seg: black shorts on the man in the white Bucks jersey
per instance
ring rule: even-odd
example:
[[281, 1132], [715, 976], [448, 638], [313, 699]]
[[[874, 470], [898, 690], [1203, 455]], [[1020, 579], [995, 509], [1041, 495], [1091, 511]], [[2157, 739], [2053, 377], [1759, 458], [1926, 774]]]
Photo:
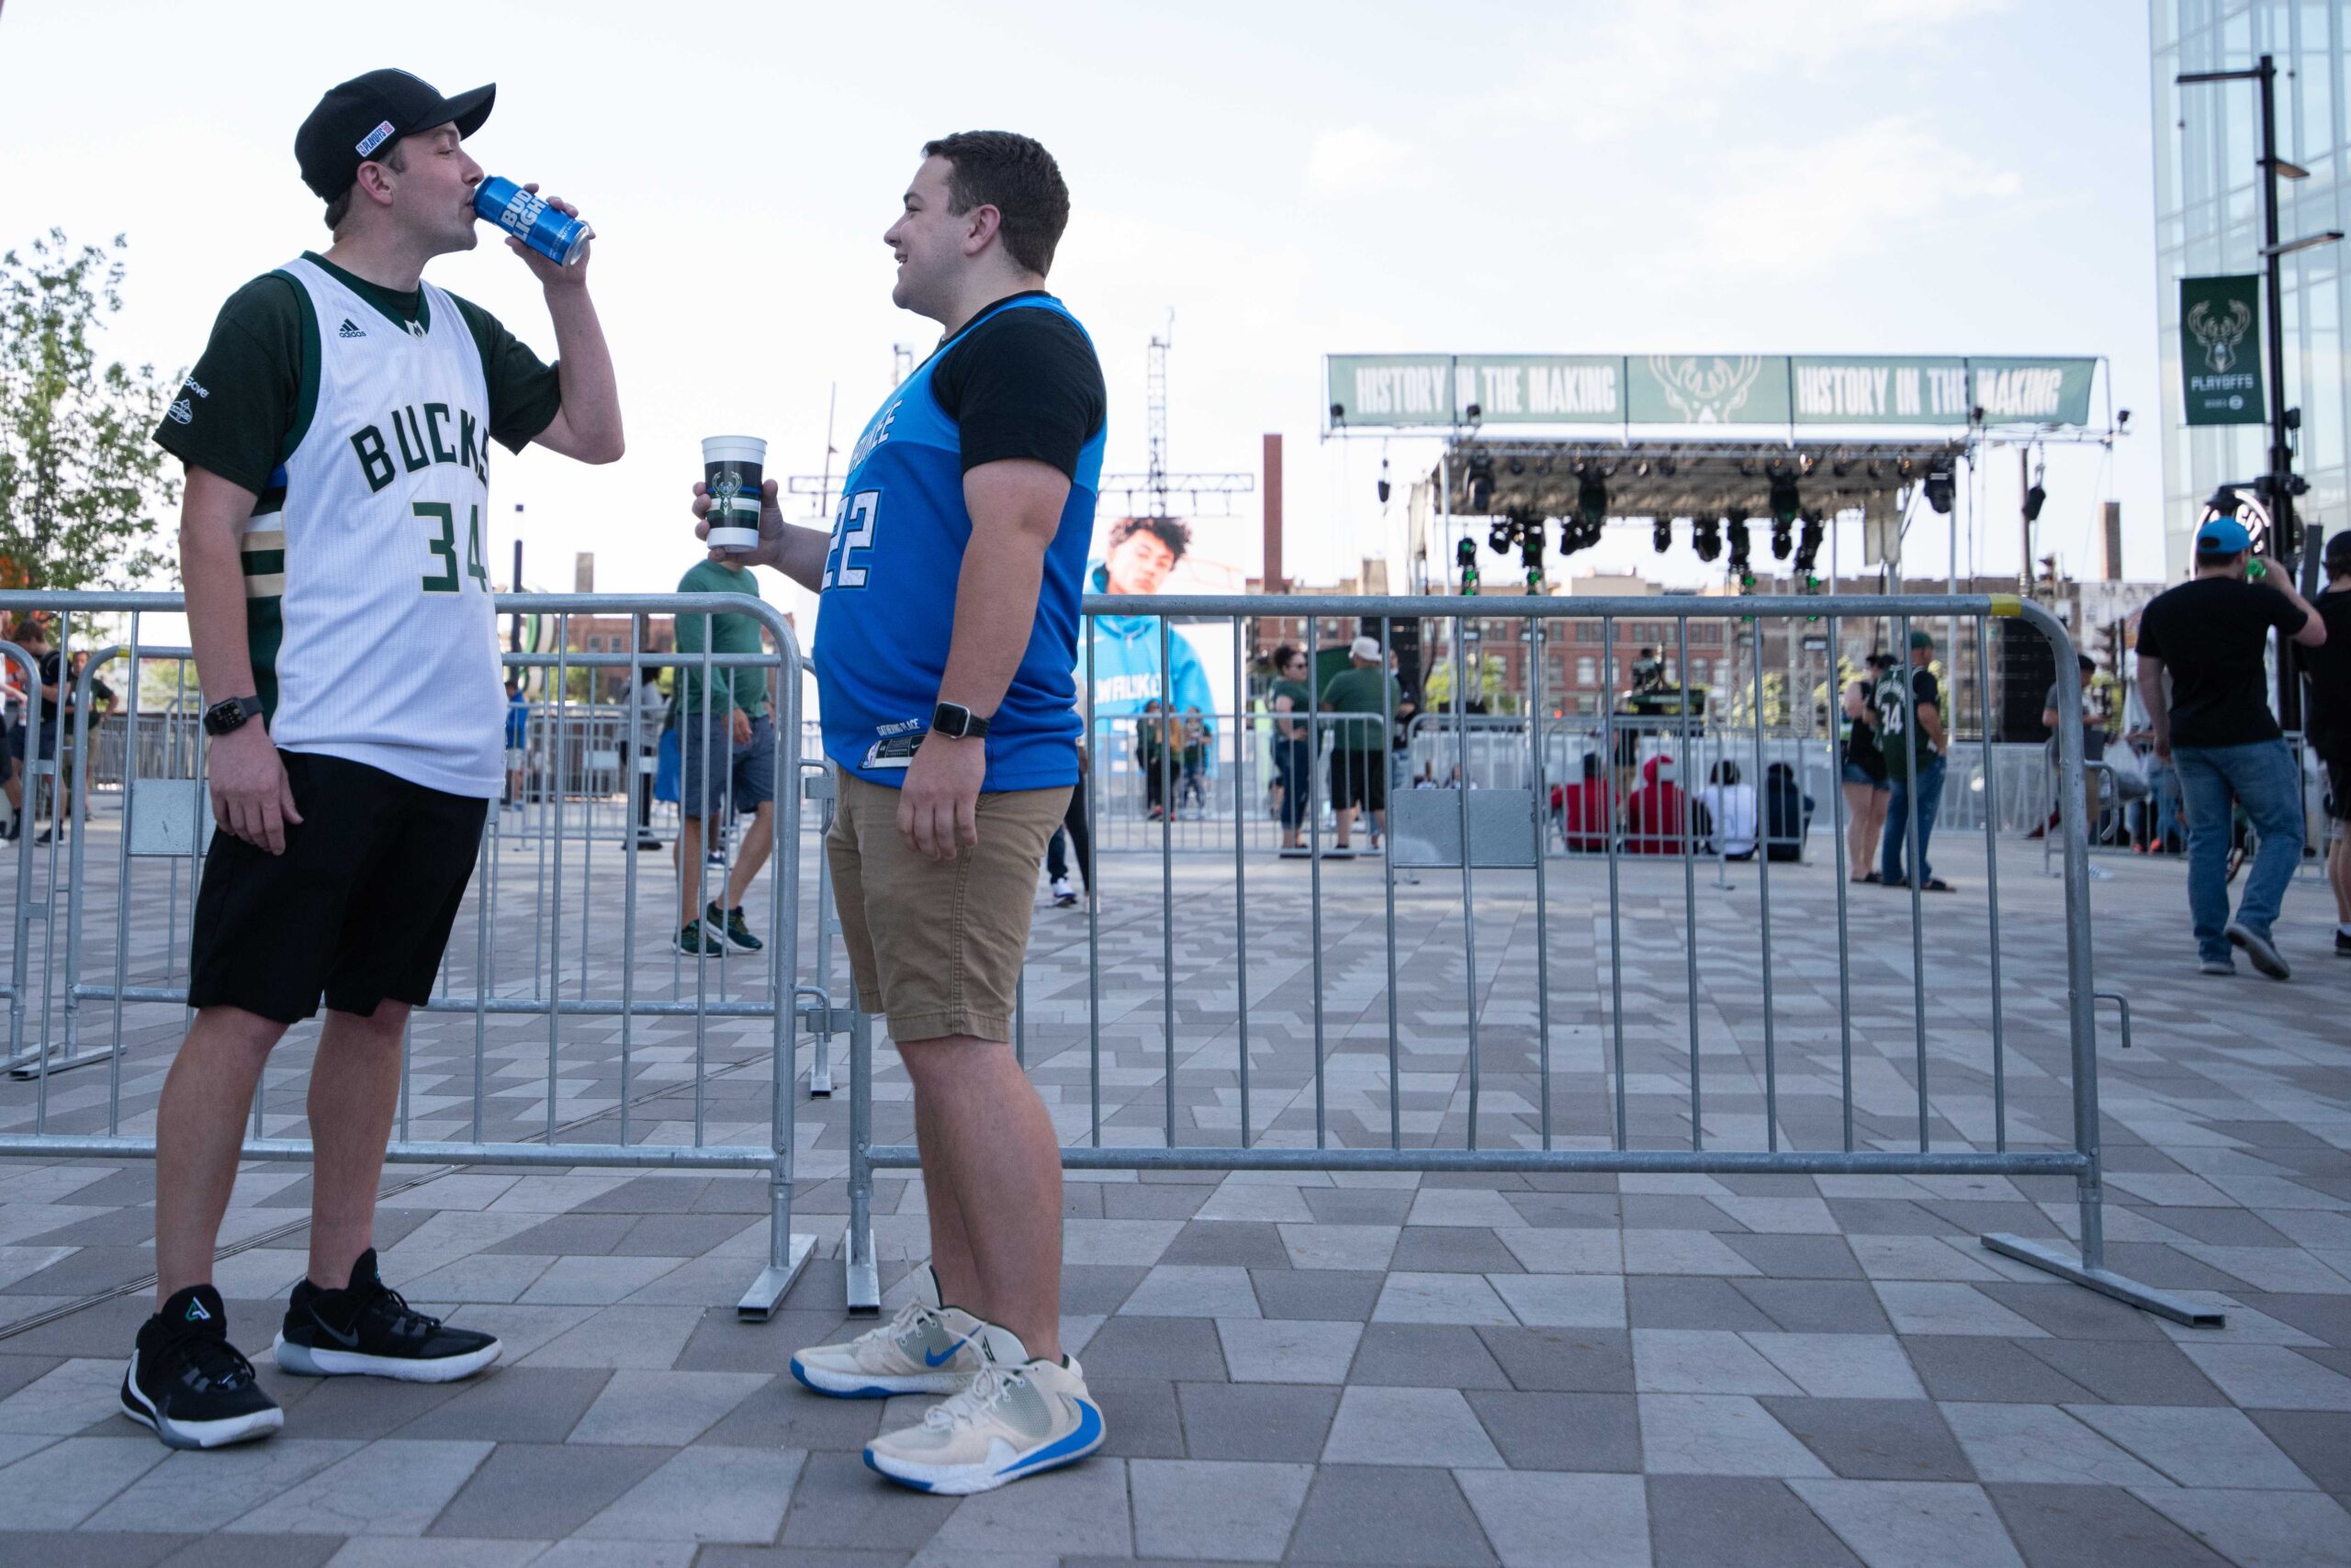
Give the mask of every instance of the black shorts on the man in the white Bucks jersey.
[[301, 825], [273, 856], [214, 832], [195, 896], [188, 1006], [277, 1023], [371, 1018], [433, 997], [449, 929], [482, 851], [489, 802], [444, 795], [343, 757], [280, 752]]

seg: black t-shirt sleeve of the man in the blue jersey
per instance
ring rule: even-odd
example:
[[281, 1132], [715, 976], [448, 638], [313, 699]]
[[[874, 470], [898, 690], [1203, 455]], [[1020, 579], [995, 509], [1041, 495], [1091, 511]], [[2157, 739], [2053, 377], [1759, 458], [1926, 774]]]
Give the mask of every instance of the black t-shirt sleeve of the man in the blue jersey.
[[964, 334], [931, 371], [931, 395], [962, 430], [964, 473], [1030, 458], [1072, 480], [1110, 404], [1086, 334], [1037, 308], [1004, 310]]

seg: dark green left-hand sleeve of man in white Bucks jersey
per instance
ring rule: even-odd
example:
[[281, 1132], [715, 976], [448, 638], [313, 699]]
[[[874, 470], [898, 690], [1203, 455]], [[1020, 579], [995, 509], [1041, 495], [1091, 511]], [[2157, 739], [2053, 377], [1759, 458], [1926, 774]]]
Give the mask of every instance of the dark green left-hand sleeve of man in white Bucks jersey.
[[[303, 374], [315, 336], [310, 301], [284, 273], [230, 294], [202, 357], [155, 425], [155, 444], [254, 494], [270, 489], [270, 475], [308, 423]], [[315, 397], [313, 383], [308, 400]]]

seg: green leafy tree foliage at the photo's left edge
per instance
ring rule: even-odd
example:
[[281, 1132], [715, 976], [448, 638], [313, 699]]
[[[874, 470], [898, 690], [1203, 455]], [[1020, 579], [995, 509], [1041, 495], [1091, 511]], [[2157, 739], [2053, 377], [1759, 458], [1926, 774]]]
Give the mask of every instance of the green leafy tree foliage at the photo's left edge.
[[122, 310], [122, 235], [68, 244], [61, 228], [0, 256], [0, 585], [132, 588], [169, 567], [158, 515], [179, 477], [148, 433], [179, 376], [103, 362]]

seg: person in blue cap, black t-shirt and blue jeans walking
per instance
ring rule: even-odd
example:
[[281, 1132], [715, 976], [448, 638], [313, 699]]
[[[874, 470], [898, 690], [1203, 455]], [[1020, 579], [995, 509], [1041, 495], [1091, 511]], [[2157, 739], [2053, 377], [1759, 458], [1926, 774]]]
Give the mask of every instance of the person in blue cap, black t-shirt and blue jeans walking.
[[[2271, 980], [2292, 969], [2269, 938], [2285, 884], [2302, 860], [2302, 773], [2264, 696], [2269, 632], [2304, 646], [2327, 623], [2285, 581], [2248, 581], [2252, 538], [2233, 517], [2196, 529], [2196, 576], [2139, 616], [2139, 696], [2156, 731], [2156, 762], [2179, 773], [2189, 813], [2189, 917], [2208, 976], [2236, 973], [2243, 947]], [[2163, 677], [2172, 677], [2170, 701]], [[2262, 849], [2229, 919], [2229, 802], [2245, 809]]]

